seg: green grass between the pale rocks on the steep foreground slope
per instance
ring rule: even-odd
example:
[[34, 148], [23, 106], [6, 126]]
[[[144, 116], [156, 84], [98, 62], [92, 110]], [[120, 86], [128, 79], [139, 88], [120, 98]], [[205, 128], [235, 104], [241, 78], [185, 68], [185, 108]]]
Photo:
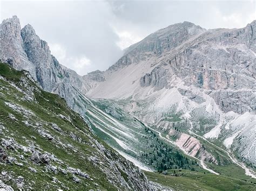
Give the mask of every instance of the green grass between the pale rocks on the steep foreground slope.
[[[21, 77], [26, 78], [23, 72], [17, 72], [8, 65], [0, 63], [0, 76], [5, 77], [8, 81], [14, 82], [19, 88], [24, 88], [23, 84], [20, 83]], [[29, 81], [29, 86], [35, 87], [35, 84], [32, 81]], [[46, 93], [42, 90], [35, 90], [33, 92], [35, 93], [36, 102], [28, 102], [21, 99], [24, 97], [24, 94], [21, 91], [18, 91], [15, 87], [10, 86], [9, 82], [1, 79], [0, 92], [0, 125], [5, 127], [3, 133], [0, 133], [0, 139], [13, 137], [18, 144], [23, 146], [29, 146], [29, 143], [35, 143], [39, 148], [42, 148], [42, 153], [53, 153], [64, 163], [60, 164], [59, 162], [51, 161], [52, 166], [58, 166], [64, 169], [68, 166], [79, 168], [82, 172], [89, 174], [93, 181], [78, 176], [82, 181], [80, 183], [75, 183], [71, 173], [64, 174], [59, 172], [55, 174], [52, 171], [47, 171], [45, 164], [35, 164], [30, 160], [31, 153], [24, 153], [21, 150], [5, 149], [9, 156], [15, 157], [17, 162], [21, 162], [24, 165], [20, 167], [15, 164], [9, 165], [0, 163], [1, 171], [6, 171], [11, 174], [13, 179], [17, 178], [17, 176], [23, 176], [25, 185], [37, 189], [66, 189], [67, 187], [70, 189], [116, 189], [116, 187], [107, 180], [106, 174], [102, 172], [102, 169], [97, 165], [93, 165], [88, 159], [89, 156], [93, 155], [97, 155], [98, 158], [101, 157], [100, 154], [97, 154], [98, 150], [91, 146], [92, 144], [95, 144], [93, 143], [93, 140], [98, 140], [98, 138], [93, 136], [83, 119], [66, 105], [63, 98], [60, 98], [58, 95]], [[14, 111], [8, 107], [5, 102], [21, 105], [22, 108], [32, 111], [35, 116], [26, 117], [21, 112]], [[17, 121], [12, 120], [9, 116], [10, 114], [14, 115]], [[59, 117], [58, 114], [69, 116], [71, 122]], [[32, 126], [26, 126], [24, 121], [29, 121]], [[59, 142], [65, 145], [71, 144], [77, 151], [74, 151], [72, 148], [64, 148], [56, 141], [48, 140], [47, 138], [42, 137], [42, 135], [39, 135], [36, 123], [41, 123], [42, 128], [55, 137], [55, 140], [59, 140]], [[51, 123], [57, 124], [62, 132], [52, 129]], [[69, 136], [71, 132], [81, 138], [82, 142], [79, 143], [76, 140], [73, 140]], [[98, 140], [98, 142], [100, 142], [100, 140]], [[103, 142], [100, 143], [108, 148], [110, 153], [113, 153], [112, 148]], [[19, 158], [21, 154], [24, 155], [23, 160]], [[116, 156], [115, 154], [113, 155]], [[31, 172], [29, 167], [35, 168], [37, 173]], [[125, 173], [122, 172], [121, 174]], [[58, 179], [57, 183], [52, 182], [53, 176]], [[127, 178], [126, 176], [124, 178]], [[14, 180], [6, 180], [5, 183], [12, 186], [14, 189], [17, 189]]]

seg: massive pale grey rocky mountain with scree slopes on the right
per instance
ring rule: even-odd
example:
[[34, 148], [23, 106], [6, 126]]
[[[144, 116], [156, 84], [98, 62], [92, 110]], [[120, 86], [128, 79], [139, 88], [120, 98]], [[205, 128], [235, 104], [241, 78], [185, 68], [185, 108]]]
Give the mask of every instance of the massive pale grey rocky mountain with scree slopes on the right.
[[122, 104], [168, 137], [176, 126], [221, 142], [255, 166], [255, 30], [256, 21], [242, 29], [171, 25], [127, 48], [86, 95]]

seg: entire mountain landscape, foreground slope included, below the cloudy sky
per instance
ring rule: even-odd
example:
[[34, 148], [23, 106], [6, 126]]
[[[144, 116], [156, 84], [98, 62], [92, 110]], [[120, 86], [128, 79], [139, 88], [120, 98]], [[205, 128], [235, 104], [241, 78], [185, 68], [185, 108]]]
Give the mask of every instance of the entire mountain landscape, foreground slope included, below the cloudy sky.
[[84, 76], [0, 29], [0, 188], [255, 189], [255, 20], [170, 25]]

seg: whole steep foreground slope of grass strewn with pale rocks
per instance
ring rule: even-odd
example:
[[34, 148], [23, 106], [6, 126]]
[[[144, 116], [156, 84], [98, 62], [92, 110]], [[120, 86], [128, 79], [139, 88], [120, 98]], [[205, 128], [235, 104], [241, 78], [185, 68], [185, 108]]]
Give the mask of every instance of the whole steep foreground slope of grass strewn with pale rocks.
[[150, 190], [145, 175], [99, 140], [58, 95], [0, 63], [0, 187]]

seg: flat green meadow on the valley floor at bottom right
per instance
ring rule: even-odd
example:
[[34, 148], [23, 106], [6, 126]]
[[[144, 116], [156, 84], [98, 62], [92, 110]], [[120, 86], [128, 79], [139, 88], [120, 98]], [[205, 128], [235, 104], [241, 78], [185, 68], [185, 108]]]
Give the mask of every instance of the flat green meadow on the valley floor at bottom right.
[[254, 183], [211, 173], [170, 169], [166, 175], [153, 172], [145, 174], [149, 180], [174, 190], [256, 190]]

